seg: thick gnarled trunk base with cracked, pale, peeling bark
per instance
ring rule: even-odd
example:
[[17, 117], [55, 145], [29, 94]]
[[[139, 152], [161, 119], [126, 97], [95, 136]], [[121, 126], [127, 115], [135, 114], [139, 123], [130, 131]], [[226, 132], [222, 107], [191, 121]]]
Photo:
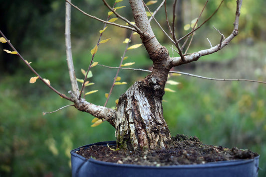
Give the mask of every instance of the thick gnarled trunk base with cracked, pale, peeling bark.
[[120, 96], [114, 121], [119, 147], [165, 149], [171, 144], [170, 131], [163, 117], [164, 84], [151, 74]]

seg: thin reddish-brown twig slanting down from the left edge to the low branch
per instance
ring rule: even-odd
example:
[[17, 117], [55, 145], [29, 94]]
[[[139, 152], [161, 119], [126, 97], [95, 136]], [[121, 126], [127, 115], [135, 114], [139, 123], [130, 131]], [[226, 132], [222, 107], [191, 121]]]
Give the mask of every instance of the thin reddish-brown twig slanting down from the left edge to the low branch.
[[17, 52], [17, 56], [27, 65], [27, 67], [36, 75], [38, 76], [40, 79], [48, 88], [52, 89], [54, 92], [56, 92], [59, 96], [71, 101], [70, 97], [67, 97], [65, 94], [60, 93], [59, 91], [57, 91], [56, 89], [54, 89], [51, 85], [49, 85], [47, 82], [44, 81], [44, 79], [42, 79], [42, 77], [25, 61], [25, 59], [19, 54], [19, 52], [14, 48], [14, 46], [10, 43], [10, 41], [8, 41], [8, 39], [4, 36], [4, 34], [2, 33], [2, 31], [0, 30], [0, 34], [1, 36], [3, 36], [3, 38], [6, 40], [6, 42], [8, 43], [8, 45]]

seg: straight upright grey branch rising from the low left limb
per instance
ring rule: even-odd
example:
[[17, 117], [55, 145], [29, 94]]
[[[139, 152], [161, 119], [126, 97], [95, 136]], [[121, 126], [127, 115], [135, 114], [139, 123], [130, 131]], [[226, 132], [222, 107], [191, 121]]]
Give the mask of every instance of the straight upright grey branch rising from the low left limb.
[[[69, 0], [71, 1], [71, 0]], [[66, 47], [66, 61], [68, 67], [68, 73], [70, 77], [70, 82], [72, 86], [72, 90], [74, 94], [79, 94], [79, 89], [77, 85], [75, 69], [73, 64], [72, 58], [72, 51], [71, 51], [71, 38], [70, 38], [70, 31], [71, 31], [71, 5], [65, 2], [65, 47]]]

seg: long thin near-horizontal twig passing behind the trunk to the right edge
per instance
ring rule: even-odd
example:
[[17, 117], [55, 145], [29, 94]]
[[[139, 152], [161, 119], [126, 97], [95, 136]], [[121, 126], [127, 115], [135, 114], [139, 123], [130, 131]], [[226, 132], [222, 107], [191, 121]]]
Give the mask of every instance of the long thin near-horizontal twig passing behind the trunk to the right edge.
[[[136, 68], [110, 67], [110, 66], [105, 66], [105, 65], [100, 65], [100, 64], [98, 64], [97, 66], [102, 66], [102, 67], [112, 68], [112, 69], [124, 69], [124, 70], [133, 70], [133, 71], [143, 71], [143, 72], [148, 72], [148, 73], [151, 73], [152, 72], [150, 70], [143, 70], [143, 69], [136, 69]], [[255, 80], [248, 80], [248, 79], [217, 79], [217, 78], [208, 78], [208, 77], [193, 75], [193, 74], [190, 74], [190, 73], [179, 72], [179, 71], [170, 71], [169, 73], [182, 74], [182, 75], [186, 75], [186, 76], [192, 76], [192, 77], [195, 77], [195, 78], [201, 78], [201, 79], [207, 79], [207, 80], [214, 80], [214, 81], [246, 81], [246, 82], [254, 82], [254, 83], [266, 84], [266, 82], [263, 82], [263, 81], [255, 81]]]

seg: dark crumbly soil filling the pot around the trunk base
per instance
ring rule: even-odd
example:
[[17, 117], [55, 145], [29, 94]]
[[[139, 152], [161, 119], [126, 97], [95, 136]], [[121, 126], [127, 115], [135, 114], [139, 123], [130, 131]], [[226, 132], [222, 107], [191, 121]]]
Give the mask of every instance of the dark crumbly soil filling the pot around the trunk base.
[[[222, 146], [204, 145], [197, 137], [188, 138], [185, 135], [173, 137], [173, 147], [165, 150], [124, 151], [115, 146], [91, 146], [81, 148], [76, 153], [89, 159], [113, 162], [119, 164], [135, 164], [148, 166], [170, 166], [205, 164], [209, 162], [237, 159], [253, 159], [257, 153], [238, 148], [223, 148]], [[112, 149], [110, 149], [112, 148]]]

